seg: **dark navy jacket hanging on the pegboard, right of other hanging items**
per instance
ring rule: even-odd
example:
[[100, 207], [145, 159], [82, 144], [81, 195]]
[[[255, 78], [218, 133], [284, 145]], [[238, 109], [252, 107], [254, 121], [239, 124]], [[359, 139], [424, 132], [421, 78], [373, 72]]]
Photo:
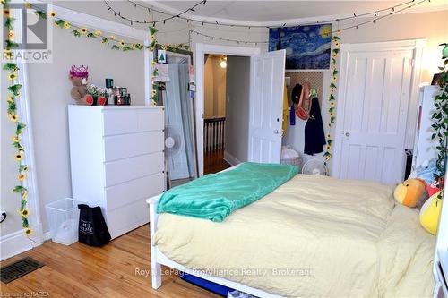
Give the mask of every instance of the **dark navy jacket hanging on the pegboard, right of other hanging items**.
[[313, 155], [323, 152], [323, 145], [326, 144], [325, 132], [323, 131], [321, 107], [319, 99], [311, 100], [309, 118], [305, 124], [305, 148], [304, 153]]

